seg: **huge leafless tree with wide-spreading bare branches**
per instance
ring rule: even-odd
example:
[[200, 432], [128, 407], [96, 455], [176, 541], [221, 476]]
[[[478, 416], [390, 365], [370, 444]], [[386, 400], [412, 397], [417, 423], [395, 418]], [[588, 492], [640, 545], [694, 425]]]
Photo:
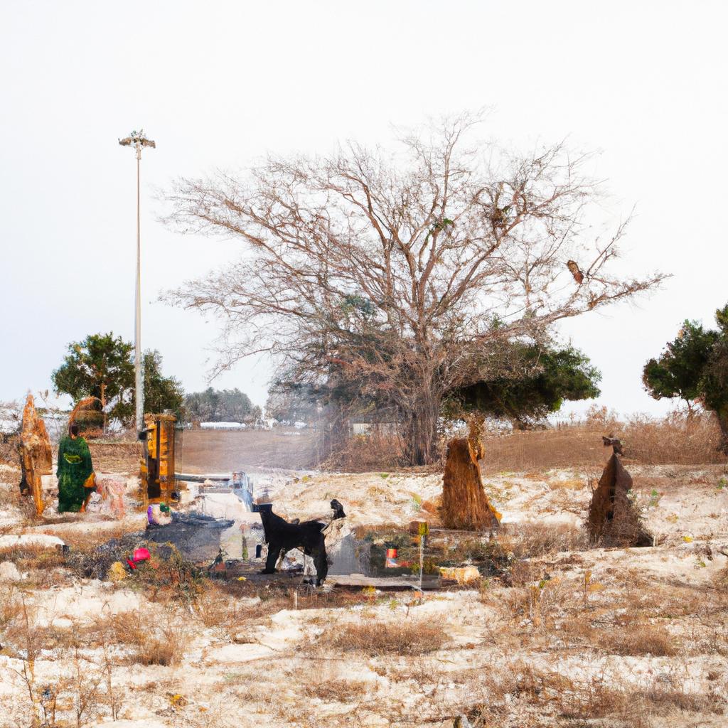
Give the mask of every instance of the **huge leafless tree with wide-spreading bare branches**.
[[498, 341], [539, 340], [660, 282], [611, 271], [624, 224], [588, 237], [586, 157], [469, 143], [477, 121], [405, 135], [391, 154], [349, 143], [178, 181], [169, 221], [245, 248], [167, 296], [221, 317], [217, 370], [265, 351], [298, 381], [355, 383], [396, 408], [423, 464], [443, 397], [488, 374]]

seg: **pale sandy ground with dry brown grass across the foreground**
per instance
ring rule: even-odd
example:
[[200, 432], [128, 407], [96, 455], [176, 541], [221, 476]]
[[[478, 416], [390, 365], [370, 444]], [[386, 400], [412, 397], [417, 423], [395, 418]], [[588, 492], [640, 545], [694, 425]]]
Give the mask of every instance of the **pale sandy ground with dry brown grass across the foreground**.
[[[294, 609], [291, 590], [158, 601], [131, 579], [114, 585], [58, 567], [49, 577], [31, 566], [0, 583], [0, 726], [31, 725], [31, 694], [47, 716], [43, 691], [59, 685], [55, 723], [44, 725], [106, 724], [114, 707], [118, 728], [435, 728], [459, 713], [481, 727], [724, 726], [728, 482], [714, 466], [628, 468], [651, 548], [537, 550], [529, 528], [578, 540], [598, 472], [489, 476], [504, 548], [534, 550], [510, 585], [301, 596]], [[140, 523], [133, 513], [122, 523], [104, 513], [23, 523], [12, 475], [0, 469], [2, 536], [101, 541]], [[336, 497], [354, 525], [403, 524], [427, 515], [441, 478], [274, 472], [256, 488], [289, 518], [325, 515]], [[143, 640], [174, 643], [178, 660], [140, 664], [139, 644], [119, 638], [119, 623], [137, 622]], [[414, 637], [397, 644], [407, 629]], [[332, 646], [338, 634], [351, 642]]]

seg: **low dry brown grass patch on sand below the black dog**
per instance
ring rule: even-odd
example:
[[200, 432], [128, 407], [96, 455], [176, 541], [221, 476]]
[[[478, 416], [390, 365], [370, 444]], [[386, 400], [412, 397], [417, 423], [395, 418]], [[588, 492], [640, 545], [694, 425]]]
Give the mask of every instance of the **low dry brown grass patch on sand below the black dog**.
[[316, 645], [333, 652], [363, 652], [415, 655], [435, 652], [446, 636], [438, 626], [424, 620], [406, 622], [362, 622], [331, 625], [317, 639]]

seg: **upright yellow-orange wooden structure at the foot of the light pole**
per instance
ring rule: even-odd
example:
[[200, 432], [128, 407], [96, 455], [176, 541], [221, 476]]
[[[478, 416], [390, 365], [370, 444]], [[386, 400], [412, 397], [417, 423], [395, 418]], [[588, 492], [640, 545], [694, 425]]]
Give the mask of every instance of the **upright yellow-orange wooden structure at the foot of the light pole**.
[[141, 461], [141, 492], [146, 508], [167, 503], [175, 490], [175, 422], [173, 414], [144, 415], [144, 454]]

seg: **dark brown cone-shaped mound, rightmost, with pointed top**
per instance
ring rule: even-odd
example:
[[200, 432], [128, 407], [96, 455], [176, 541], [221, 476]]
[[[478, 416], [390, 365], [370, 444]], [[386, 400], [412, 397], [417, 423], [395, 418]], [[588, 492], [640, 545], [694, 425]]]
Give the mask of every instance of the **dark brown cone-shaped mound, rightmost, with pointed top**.
[[589, 505], [587, 529], [591, 542], [601, 546], [650, 546], [652, 535], [644, 528], [630, 500], [632, 476], [616, 453], [606, 463]]

